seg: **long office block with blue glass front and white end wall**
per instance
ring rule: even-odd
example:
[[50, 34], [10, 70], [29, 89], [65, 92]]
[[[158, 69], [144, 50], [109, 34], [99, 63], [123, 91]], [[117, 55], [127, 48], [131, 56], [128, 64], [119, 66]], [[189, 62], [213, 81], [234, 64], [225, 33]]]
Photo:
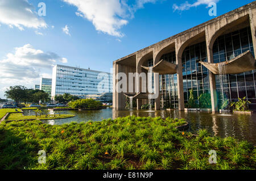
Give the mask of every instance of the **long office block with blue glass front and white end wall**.
[[56, 65], [52, 69], [52, 99], [65, 93], [84, 99], [97, 99], [112, 102], [112, 74], [81, 69], [71, 66]]

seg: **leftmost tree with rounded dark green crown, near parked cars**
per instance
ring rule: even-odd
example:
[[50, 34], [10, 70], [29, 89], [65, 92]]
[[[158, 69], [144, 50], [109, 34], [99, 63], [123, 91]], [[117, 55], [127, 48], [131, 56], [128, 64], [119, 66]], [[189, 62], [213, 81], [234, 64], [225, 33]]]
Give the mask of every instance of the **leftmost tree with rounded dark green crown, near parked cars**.
[[8, 99], [12, 99], [16, 104], [23, 99], [23, 96], [26, 95], [27, 88], [24, 86], [11, 86], [5, 91], [5, 96]]

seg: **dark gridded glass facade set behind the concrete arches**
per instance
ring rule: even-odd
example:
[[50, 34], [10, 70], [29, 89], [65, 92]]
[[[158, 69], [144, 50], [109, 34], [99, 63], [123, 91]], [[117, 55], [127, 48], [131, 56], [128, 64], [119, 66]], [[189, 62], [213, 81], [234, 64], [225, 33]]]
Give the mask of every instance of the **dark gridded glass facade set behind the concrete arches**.
[[[213, 61], [229, 61], [247, 50], [254, 56], [250, 27], [218, 37], [213, 45]], [[164, 54], [160, 60], [177, 64], [175, 52]], [[201, 94], [210, 94], [209, 70], [199, 61], [208, 61], [205, 41], [185, 48], [182, 55], [185, 105], [188, 103], [191, 89], [196, 104], [199, 104]], [[148, 67], [150, 66], [153, 66], [152, 59], [148, 60]], [[215, 78], [219, 109], [225, 99], [236, 102], [238, 98], [246, 97], [251, 102], [250, 109], [256, 110], [256, 70], [241, 74], [215, 75]], [[159, 75], [159, 84], [161, 107], [178, 108], [177, 74]]]

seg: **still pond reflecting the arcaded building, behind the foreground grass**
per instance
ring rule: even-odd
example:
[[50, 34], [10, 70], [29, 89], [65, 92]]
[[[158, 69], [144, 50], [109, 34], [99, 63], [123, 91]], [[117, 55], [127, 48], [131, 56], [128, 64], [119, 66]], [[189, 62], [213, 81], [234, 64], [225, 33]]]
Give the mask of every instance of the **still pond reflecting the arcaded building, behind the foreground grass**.
[[[26, 114], [31, 112], [25, 112]], [[100, 111], [63, 111], [62, 114], [73, 114], [76, 117], [60, 120], [48, 120], [48, 124], [65, 124], [75, 121], [100, 121], [102, 119], [115, 119], [124, 116], [151, 116], [162, 118], [184, 118], [190, 123], [189, 131], [196, 132], [199, 129], [207, 129], [212, 136], [235, 137], [239, 140], [247, 140], [256, 145], [256, 114], [221, 114], [208, 112], [180, 112], [180, 111], [116, 111], [112, 109]]]

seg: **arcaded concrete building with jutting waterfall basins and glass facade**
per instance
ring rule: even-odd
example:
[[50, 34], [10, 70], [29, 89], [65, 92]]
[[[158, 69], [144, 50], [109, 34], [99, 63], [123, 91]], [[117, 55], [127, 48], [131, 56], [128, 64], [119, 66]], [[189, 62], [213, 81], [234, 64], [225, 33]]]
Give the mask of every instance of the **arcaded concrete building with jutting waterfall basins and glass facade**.
[[[210, 94], [212, 112], [226, 99], [243, 97], [256, 109], [255, 30], [256, 2], [252, 2], [114, 61], [113, 107], [125, 108], [127, 94], [137, 100], [137, 109], [149, 102], [141, 94], [143, 82], [138, 74], [151, 68], [154, 90], [160, 91], [154, 99], [155, 110], [183, 111], [191, 89], [197, 104], [200, 95]], [[121, 86], [118, 73], [127, 77], [138, 73], [134, 84], [125, 87], [126, 92], [116, 90]]]

